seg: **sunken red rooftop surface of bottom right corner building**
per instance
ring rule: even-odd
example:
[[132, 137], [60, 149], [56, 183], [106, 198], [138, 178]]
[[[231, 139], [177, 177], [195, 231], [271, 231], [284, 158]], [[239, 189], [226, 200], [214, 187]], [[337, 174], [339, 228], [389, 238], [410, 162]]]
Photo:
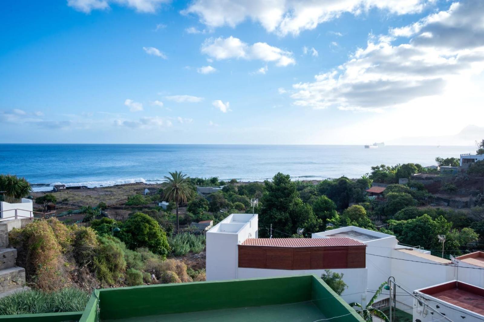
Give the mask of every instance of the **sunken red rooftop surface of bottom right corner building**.
[[454, 280], [419, 292], [484, 315], [484, 289], [480, 287]]

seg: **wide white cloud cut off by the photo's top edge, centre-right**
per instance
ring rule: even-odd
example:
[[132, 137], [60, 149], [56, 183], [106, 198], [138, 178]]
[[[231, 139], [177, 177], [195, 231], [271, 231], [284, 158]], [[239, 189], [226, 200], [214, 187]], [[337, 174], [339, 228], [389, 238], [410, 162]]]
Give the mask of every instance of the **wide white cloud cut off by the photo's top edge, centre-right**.
[[315, 29], [344, 13], [360, 15], [379, 9], [395, 15], [418, 13], [434, 0], [194, 0], [182, 14], [195, 14], [209, 28], [235, 27], [250, 19], [267, 31], [278, 35], [298, 35], [303, 30]]

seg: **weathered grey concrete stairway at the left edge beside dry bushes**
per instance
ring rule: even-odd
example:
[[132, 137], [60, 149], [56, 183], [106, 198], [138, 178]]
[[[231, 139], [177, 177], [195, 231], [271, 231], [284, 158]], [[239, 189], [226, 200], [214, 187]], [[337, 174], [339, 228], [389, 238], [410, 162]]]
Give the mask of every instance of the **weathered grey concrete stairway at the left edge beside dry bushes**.
[[0, 297], [29, 289], [25, 286], [25, 269], [15, 265], [17, 250], [8, 248], [8, 232], [15, 226], [0, 221]]

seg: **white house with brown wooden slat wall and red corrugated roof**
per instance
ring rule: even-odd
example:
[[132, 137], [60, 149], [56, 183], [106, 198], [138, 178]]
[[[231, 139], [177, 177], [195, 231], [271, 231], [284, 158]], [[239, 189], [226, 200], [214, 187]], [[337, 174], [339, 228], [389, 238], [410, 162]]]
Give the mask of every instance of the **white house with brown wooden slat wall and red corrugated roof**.
[[[366, 303], [366, 246], [355, 239], [258, 238], [258, 216], [231, 214], [207, 232], [207, 280], [343, 273], [349, 302]], [[348, 295], [345, 295], [348, 294]]]

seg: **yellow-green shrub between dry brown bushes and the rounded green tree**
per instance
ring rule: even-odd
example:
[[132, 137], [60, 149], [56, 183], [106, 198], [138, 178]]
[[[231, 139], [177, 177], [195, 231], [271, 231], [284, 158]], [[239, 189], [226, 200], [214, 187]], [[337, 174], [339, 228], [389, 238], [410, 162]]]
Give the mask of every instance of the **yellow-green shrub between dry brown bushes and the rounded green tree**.
[[124, 246], [118, 238], [99, 237], [99, 247], [94, 256], [96, 277], [102, 283], [115, 284], [126, 269]]

